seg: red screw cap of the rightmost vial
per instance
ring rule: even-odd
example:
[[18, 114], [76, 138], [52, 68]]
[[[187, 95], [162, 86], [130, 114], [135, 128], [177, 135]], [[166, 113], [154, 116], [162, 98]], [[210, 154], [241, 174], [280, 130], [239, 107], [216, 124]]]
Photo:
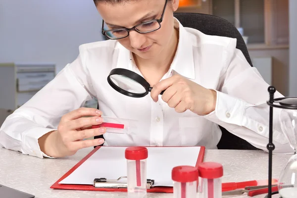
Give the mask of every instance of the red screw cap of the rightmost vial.
[[203, 162], [198, 167], [199, 177], [215, 179], [223, 176], [223, 166], [216, 162]]

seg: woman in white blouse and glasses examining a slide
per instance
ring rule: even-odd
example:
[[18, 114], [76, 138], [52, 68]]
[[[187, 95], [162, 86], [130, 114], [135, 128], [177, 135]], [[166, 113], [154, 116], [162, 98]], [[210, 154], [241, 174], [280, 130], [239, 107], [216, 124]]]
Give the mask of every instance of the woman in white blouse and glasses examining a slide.
[[[221, 125], [267, 150], [268, 85], [235, 39], [183, 27], [173, 17], [179, 0], [94, 1], [108, 28], [102, 33], [111, 39], [80, 46], [76, 60], [10, 115], [0, 129], [2, 147], [62, 157], [103, 144], [86, 139], [104, 134], [104, 146], [216, 148]], [[106, 81], [113, 68], [142, 75], [153, 86], [150, 95], [113, 90]], [[80, 108], [92, 97], [99, 110]], [[136, 135], [91, 129], [103, 122], [101, 115], [138, 120], [142, 127]], [[293, 152], [279, 123], [274, 126], [274, 153]]]

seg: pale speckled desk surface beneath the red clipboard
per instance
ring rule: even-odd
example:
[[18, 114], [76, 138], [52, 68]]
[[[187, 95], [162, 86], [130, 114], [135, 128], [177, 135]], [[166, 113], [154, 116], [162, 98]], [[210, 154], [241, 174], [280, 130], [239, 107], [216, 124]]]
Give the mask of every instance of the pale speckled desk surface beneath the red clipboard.
[[[49, 187], [86, 156], [92, 148], [59, 159], [40, 159], [0, 148], [0, 184], [36, 198], [126, 198], [126, 193], [53, 190]], [[291, 155], [273, 155], [273, 178], [278, 178]], [[206, 150], [204, 161], [224, 166], [223, 182], [268, 178], [268, 153], [258, 150]], [[171, 198], [172, 194], [149, 193], [148, 198]], [[228, 196], [231, 197], [231, 196]], [[255, 198], [263, 198], [256, 196]], [[247, 198], [246, 194], [236, 198]], [[278, 198], [278, 196], [273, 196]]]

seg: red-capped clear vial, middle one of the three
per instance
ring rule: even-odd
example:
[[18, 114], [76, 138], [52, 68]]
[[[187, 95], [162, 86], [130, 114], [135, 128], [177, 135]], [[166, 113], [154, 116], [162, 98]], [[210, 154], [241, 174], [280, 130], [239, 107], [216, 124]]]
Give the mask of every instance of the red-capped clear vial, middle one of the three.
[[196, 198], [198, 187], [198, 168], [176, 166], [171, 172], [174, 198]]

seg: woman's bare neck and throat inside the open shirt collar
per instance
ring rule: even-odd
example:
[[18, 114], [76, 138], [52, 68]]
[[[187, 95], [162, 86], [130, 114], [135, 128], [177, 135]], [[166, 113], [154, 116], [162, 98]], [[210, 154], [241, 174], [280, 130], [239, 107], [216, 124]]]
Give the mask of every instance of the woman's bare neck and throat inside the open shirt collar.
[[164, 48], [158, 58], [143, 59], [133, 54], [135, 63], [152, 86], [168, 72], [178, 46], [179, 31], [174, 29], [170, 45]]

